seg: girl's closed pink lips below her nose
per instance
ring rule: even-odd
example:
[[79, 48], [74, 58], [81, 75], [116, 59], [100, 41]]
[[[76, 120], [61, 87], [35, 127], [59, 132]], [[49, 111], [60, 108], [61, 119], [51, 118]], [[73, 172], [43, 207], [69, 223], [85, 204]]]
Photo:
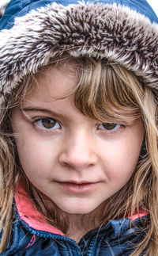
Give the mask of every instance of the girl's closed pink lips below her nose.
[[89, 182], [89, 181], [58, 181], [58, 184], [70, 193], [88, 193], [96, 188], [100, 182]]

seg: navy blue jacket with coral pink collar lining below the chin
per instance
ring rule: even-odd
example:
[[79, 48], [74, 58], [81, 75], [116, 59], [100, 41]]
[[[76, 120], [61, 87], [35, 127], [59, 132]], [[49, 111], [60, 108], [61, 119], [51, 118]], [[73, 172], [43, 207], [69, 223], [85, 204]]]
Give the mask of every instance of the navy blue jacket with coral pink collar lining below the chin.
[[143, 239], [149, 223], [147, 212], [142, 212], [140, 218], [111, 220], [89, 231], [77, 244], [47, 224], [22, 188], [15, 194], [15, 208], [13, 239], [0, 255], [127, 256]]

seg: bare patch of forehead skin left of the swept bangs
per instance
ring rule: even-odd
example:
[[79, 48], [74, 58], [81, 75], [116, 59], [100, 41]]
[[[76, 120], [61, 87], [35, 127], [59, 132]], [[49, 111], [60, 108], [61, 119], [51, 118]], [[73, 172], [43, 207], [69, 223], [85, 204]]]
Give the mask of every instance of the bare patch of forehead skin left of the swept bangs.
[[73, 63], [66, 63], [61, 67], [43, 67], [33, 78], [32, 90], [25, 99], [49, 101], [52, 98], [65, 97], [77, 86], [77, 81]]

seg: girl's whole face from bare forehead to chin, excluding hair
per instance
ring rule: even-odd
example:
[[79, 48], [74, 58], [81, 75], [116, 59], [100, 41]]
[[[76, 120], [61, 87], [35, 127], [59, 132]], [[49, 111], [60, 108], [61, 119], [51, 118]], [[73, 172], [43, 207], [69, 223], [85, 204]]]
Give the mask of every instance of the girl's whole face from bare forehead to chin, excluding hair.
[[38, 85], [13, 109], [13, 132], [28, 179], [65, 212], [85, 214], [119, 191], [134, 173], [144, 137], [141, 119], [122, 124], [85, 117], [73, 96], [70, 64], [47, 67]]

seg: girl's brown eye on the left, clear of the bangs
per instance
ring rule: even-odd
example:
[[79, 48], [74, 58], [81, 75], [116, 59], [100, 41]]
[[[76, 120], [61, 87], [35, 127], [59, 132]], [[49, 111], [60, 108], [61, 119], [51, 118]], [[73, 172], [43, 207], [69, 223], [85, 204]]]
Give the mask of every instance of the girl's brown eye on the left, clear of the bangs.
[[43, 129], [58, 129], [60, 128], [60, 124], [52, 118], [41, 118], [40, 120], [36, 120], [36, 124]]

